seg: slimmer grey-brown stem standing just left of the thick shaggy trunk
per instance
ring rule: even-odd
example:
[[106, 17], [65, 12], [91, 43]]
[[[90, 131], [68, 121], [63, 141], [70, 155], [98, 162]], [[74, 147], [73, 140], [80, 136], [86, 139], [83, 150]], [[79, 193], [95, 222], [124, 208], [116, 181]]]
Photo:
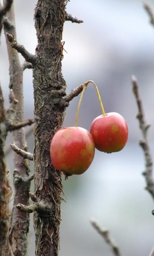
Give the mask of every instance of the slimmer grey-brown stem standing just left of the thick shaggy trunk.
[[[16, 38], [15, 18], [13, 6], [7, 14], [8, 20], [13, 24], [7, 26], [4, 23], [4, 32], [14, 34]], [[23, 70], [19, 62], [19, 56], [15, 49], [13, 49], [6, 38], [6, 44], [8, 48], [8, 56], [10, 62], [10, 88], [13, 88], [18, 104], [16, 106], [16, 120], [21, 122], [23, 120]], [[13, 132], [14, 144], [26, 151], [27, 144], [25, 141], [24, 128], [20, 128]], [[18, 203], [28, 204], [29, 201], [29, 162], [24, 160], [20, 155], [14, 153], [14, 207], [11, 218], [11, 228], [9, 232], [10, 245], [14, 256], [25, 256], [27, 251], [27, 232], [29, 228], [29, 214], [25, 212], [19, 212], [16, 208]], [[28, 182], [27, 182], [28, 180]]]

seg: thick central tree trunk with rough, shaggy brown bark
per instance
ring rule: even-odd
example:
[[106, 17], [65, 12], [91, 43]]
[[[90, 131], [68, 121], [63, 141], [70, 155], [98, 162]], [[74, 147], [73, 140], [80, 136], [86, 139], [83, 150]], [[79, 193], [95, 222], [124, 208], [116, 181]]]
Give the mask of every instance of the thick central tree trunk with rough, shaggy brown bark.
[[65, 20], [64, 0], [39, 0], [35, 8], [38, 64], [33, 68], [35, 116], [35, 195], [51, 212], [34, 213], [36, 256], [57, 256], [59, 243], [61, 174], [50, 159], [50, 143], [64, 120], [60, 100], [66, 83], [62, 77], [62, 30]]

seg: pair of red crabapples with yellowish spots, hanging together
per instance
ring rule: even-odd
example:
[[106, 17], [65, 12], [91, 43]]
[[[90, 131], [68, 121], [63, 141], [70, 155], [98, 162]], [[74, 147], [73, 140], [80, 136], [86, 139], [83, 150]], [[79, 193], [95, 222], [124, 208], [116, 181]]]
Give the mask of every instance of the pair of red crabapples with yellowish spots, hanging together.
[[125, 119], [118, 113], [101, 115], [92, 122], [90, 132], [81, 127], [61, 128], [51, 141], [51, 161], [67, 174], [82, 174], [92, 163], [95, 148], [102, 152], [118, 152], [128, 138]]

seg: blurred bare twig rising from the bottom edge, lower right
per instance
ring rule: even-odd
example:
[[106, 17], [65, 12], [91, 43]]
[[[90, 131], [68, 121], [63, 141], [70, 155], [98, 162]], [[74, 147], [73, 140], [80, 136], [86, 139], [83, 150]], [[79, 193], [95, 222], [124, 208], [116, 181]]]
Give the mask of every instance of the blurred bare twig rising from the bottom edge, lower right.
[[109, 230], [102, 229], [96, 222], [96, 220], [92, 219], [91, 221], [92, 226], [97, 230], [97, 232], [104, 238], [105, 242], [109, 244], [111, 247], [113, 254], [115, 256], [121, 256], [121, 252], [113, 238], [111, 238], [109, 234]]

